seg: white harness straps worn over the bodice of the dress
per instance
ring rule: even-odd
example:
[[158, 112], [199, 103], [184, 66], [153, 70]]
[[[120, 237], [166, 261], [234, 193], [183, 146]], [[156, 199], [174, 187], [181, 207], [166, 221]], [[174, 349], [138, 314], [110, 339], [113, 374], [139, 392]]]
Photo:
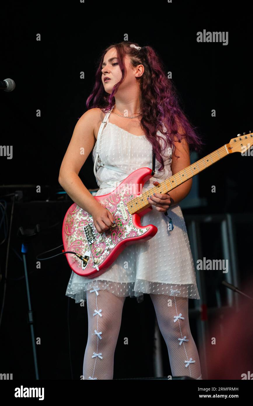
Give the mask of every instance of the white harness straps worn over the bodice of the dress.
[[[112, 108], [112, 109], [113, 109], [113, 108]], [[105, 113], [105, 117], [104, 117], [104, 119], [103, 119], [103, 121], [101, 122], [101, 125], [100, 125], [100, 127], [99, 127], [99, 132], [98, 132], [97, 140], [96, 140], [96, 156], [95, 156], [95, 159], [94, 159], [93, 171], [94, 171], [94, 175], [95, 175], [95, 177], [96, 177], [97, 179], [99, 179], [99, 177], [98, 177], [96, 171], [98, 170], [98, 168], [99, 168], [100, 166], [104, 166], [105, 168], [111, 169], [111, 170], [113, 170], [113, 171], [117, 171], [117, 172], [124, 173], [124, 175], [121, 175], [120, 177], [118, 177], [118, 178], [116, 178], [116, 179], [113, 179], [113, 180], [111, 180], [111, 181], [107, 181], [107, 182], [101, 183], [100, 186], [99, 186], [100, 189], [102, 189], [102, 188], [110, 188], [110, 187], [112, 187], [112, 186], [115, 186], [115, 187], [116, 187], [116, 183], [117, 183], [117, 182], [126, 179], [126, 177], [129, 175], [128, 173], [122, 171], [122, 169], [118, 168], [118, 166], [113, 166], [113, 165], [104, 164], [104, 163], [101, 161], [100, 157], [99, 157], [101, 134], [102, 134], [103, 129], [105, 128], [105, 126], [106, 126], [106, 124], [107, 124], [107, 120], [108, 120], [108, 118], [109, 118], [109, 115], [110, 115], [112, 109], [111, 109], [109, 112]], [[156, 162], [155, 152], [152, 151], [152, 173], [151, 173], [151, 175], [154, 175], [154, 173], [155, 173], [155, 162]], [[99, 179], [99, 181], [101, 181], [101, 179]], [[154, 185], [152, 184], [152, 181], [157, 181], [157, 178], [152, 176], [152, 177], [149, 179], [149, 181], [148, 181], [149, 184], [148, 184], [147, 186], [145, 186], [145, 187], [154, 186]], [[102, 182], [102, 181], [101, 181], [101, 182]], [[147, 183], [147, 182], [146, 182], [146, 183]]]

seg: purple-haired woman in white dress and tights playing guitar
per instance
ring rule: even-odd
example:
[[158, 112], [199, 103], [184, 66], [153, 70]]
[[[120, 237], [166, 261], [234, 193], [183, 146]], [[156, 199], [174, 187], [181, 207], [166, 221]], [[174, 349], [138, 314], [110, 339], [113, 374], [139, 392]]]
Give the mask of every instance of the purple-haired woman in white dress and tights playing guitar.
[[[150, 167], [154, 152], [154, 177], [144, 184], [143, 193], [188, 166], [190, 148], [198, 149], [201, 140], [179, 107], [176, 89], [161, 60], [149, 46], [141, 48], [129, 41], [109, 46], [101, 56], [86, 106], [88, 110], [77, 122], [62, 160], [59, 183], [92, 215], [96, 230], [102, 234], [114, 224], [114, 217], [78, 176], [91, 152], [99, 186], [96, 196], [113, 191], [114, 182], [136, 169]], [[106, 125], [99, 134], [103, 121]], [[172, 376], [202, 379], [188, 317], [188, 299], [200, 298], [179, 205], [191, 185], [189, 179], [169, 194], [155, 193], [149, 198], [153, 209], [143, 218], [145, 224], [158, 228], [151, 240], [126, 247], [97, 278], [72, 272], [66, 296], [77, 303], [87, 301], [84, 379], [113, 379], [124, 300], [130, 296], [140, 302], [144, 294], [150, 294], [154, 304]]]

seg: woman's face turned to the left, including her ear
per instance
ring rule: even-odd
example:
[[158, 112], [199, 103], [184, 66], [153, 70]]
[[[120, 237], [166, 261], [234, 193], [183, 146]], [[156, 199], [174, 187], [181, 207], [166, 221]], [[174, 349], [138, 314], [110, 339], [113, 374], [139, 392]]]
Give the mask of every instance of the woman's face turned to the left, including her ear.
[[[123, 90], [124, 88], [128, 88], [129, 90], [129, 87], [131, 87], [131, 85], [136, 85], [136, 76], [138, 75], [137, 67], [133, 69], [130, 66], [130, 59], [127, 55], [124, 58], [124, 65], [126, 69], [126, 76], [124, 78], [124, 81], [120, 84], [118, 91]], [[111, 94], [114, 85], [118, 83], [122, 78], [122, 73], [118, 64], [116, 48], [111, 48], [105, 54], [101, 72], [105, 91]], [[109, 78], [109, 80], [105, 81], [105, 78]]]

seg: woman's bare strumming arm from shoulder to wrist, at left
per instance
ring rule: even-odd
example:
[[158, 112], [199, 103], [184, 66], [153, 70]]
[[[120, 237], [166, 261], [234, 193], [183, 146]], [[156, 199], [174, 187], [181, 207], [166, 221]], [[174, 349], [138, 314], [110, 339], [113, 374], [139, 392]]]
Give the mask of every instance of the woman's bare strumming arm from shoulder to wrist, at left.
[[84, 186], [78, 174], [96, 142], [94, 123], [99, 119], [97, 110], [86, 111], [77, 121], [58, 178], [69, 197], [89, 214], [100, 204]]

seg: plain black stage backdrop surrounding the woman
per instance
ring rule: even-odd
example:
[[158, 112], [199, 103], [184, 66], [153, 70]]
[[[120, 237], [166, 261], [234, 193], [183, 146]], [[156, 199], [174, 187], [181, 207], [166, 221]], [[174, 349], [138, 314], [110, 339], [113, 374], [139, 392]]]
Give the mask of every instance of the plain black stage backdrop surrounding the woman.
[[[18, 379], [34, 378], [30, 330], [26, 324], [25, 283], [24, 279], [13, 281], [11, 278], [24, 273], [17, 228], [20, 225], [34, 227], [39, 222], [43, 233], [29, 250], [28, 268], [36, 337], [44, 337], [38, 349], [40, 374], [43, 379], [71, 378], [69, 300], [73, 378], [79, 379], [86, 346], [86, 307], [80, 308], [74, 300], [64, 296], [70, 269], [63, 255], [43, 261], [44, 268], [40, 271], [34, 264], [36, 255], [62, 243], [62, 220], [71, 201], [60, 200], [56, 195], [61, 190], [58, 184], [60, 164], [75, 124], [86, 111], [85, 102], [94, 86], [100, 55], [111, 43], [122, 41], [125, 33], [140, 46], [154, 47], [163, 59], [166, 71], [172, 71], [181, 107], [203, 137], [204, 156], [229, 143], [238, 133], [253, 131], [252, 10], [244, 2], [236, 3], [234, 9], [230, 2], [174, 1], [169, 4], [161, 1], [152, 2], [150, 6], [143, 2], [96, 2], [93, 5], [86, 2], [64, 5], [12, 2], [4, 6], [4, 11], [1, 80], [12, 78], [16, 89], [0, 93], [1, 145], [13, 145], [12, 160], [0, 157], [0, 184], [34, 187], [26, 189], [24, 195], [24, 202], [32, 200], [33, 203], [15, 206], [12, 257], [8, 268], [10, 279], [0, 326], [1, 347], [5, 354], [1, 371], [13, 372]], [[228, 31], [228, 45], [197, 43], [196, 34], [204, 29]], [[38, 33], [41, 41], [36, 41]], [[80, 79], [81, 71], [84, 71], [85, 79]], [[36, 117], [37, 109], [41, 110], [41, 117]], [[212, 109], [216, 110], [216, 117], [211, 117]], [[199, 195], [207, 199], [208, 205], [184, 213], [230, 212], [238, 216], [252, 213], [252, 159], [251, 156], [242, 157], [240, 153], [230, 154], [199, 174]], [[79, 175], [87, 188], [97, 187], [91, 156]], [[39, 197], [36, 185], [41, 186]], [[216, 193], [211, 192], [212, 185], [216, 186]], [[1, 189], [1, 195], [7, 189]], [[43, 203], [45, 199], [48, 204]], [[204, 235], [206, 253], [215, 257], [220, 248], [215, 229], [204, 231]], [[247, 221], [246, 225], [237, 227], [236, 237], [242, 261], [240, 270], [247, 275], [251, 272], [252, 241]], [[242, 255], [245, 252], [247, 255]], [[3, 276], [6, 242], [2, 244], [1, 257]], [[245, 274], [241, 276], [245, 278]], [[2, 293], [3, 277], [1, 282]], [[208, 283], [211, 287], [211, 279]], [[130, 298], [126, 303], [116, 348], [114, 378], [152, 376], [152, 303], [148, 295], [142, 304]], [[215, 304], [212, 295], [208, 297], [208, 304]], [[134, 332], [140, 325], [143, 333], [136, 337]], [[195, 336], [194, 321], [191, 328]], [[123, 346], [123, 337], [131, 335], [131, 346]], [[140, 351], [144, 352], [142, 356], [139, 356]], [[165, 374], [169, 374], [164, 343], [163, 354]]]

